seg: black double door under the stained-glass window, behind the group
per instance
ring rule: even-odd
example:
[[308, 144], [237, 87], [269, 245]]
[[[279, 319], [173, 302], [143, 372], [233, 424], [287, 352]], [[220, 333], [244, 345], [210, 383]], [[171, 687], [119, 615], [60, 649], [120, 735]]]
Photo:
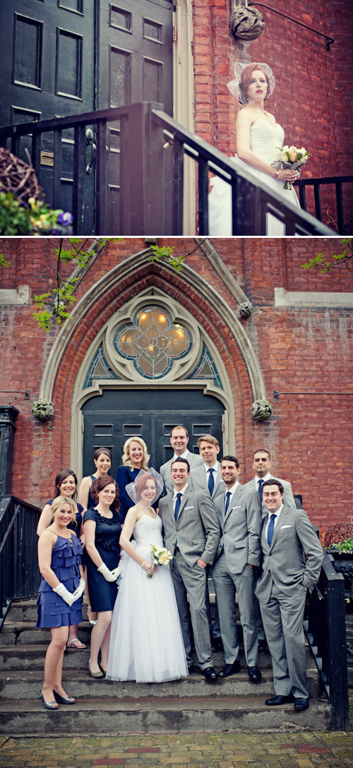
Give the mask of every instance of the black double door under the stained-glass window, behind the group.
[[82, 408], [84, 416], [83, 472], [93, 469], [93, 453], [105, 445], [113, 452], [112, 475], [121, 464], [125, 440], [140, 435], [150, 453], [150, 466], [157, 469], [173, 455], [170, 429], [183, 424], [189, 432], [188, 448], [198, 452], [197, 439], [210, 433], [222, 449], [222, 403], [200, 390], [150, 389], [106, 391], [91, 398]]

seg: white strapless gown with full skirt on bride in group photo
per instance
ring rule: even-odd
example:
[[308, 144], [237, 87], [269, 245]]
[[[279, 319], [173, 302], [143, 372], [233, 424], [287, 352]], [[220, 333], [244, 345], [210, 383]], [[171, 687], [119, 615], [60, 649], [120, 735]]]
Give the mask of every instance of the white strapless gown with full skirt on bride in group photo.
[[[150, 560], [152, 544], [163, 547], [160, 518], [144, 515], [134, 525], [134, 546]], [[152, 578], [124, 552], [122, 578], [111, 622], [107, 678], [160, 683], [188, 673], [170, 570]]]

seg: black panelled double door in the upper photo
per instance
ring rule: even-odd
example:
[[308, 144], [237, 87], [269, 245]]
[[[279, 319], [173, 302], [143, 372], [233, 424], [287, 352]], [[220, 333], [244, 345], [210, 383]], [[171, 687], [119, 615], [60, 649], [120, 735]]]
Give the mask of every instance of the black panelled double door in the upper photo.
[[[173, 112], [170, 0], [0, 0], [0, 124], [64, 117], [137, 101]], [[61, 207], [71, 210], [73, 134], [63, 137]], [[107, 232], [119, 232], [119, 126], [107, 135]], [[21, 157], [26, 160], [21, 143]], [[52, 136], [41, 146], [51, 203]], [[91, 159], [87, 147], [86, 164]], [[94, 173], [86, 177], [85, 233], [93, 231]], [[124, 234], [124, 233], [123, 233]]]

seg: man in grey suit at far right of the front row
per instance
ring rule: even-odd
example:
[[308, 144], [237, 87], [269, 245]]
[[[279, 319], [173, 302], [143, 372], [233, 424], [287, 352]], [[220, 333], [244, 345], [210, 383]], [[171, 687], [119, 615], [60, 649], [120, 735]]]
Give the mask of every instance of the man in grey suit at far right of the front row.
[[[303, 616], [307, 589], [318, 581], [324, 553], [304, 509], [283, 505], [279, 480], [266, 480], [262, 499], [262, 574], [256, 584], [272, 656], [275, 696], [268, 706], [294, 701], [308, 709]], [[306, 559], [305, 559], [306, 558]]]

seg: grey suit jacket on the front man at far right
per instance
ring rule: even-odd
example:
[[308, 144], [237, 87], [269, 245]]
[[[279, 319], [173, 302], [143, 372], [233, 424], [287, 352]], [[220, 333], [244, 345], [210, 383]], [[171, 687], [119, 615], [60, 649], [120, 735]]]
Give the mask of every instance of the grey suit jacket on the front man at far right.
[[[256, 584], [256, 597], [262, 603], [270, 598], [272, 584], [295, 598], [299, 589], [315, 587], [324, 551], [304, 509], [283, 506], [273, 531], [271, 547], [266, 535], [266, 515], [262, 517], [262, 574]], [[306, 555], [306, 560], [305, 560]]]

